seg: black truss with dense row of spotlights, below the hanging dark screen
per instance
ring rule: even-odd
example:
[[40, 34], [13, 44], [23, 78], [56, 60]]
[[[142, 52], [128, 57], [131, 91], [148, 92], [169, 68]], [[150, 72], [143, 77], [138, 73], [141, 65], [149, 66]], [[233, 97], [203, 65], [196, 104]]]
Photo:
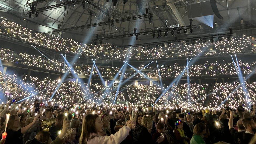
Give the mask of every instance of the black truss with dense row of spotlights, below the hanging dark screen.
[[177, 30], [183, 30], [183, 29], [190, 29], [195, 28], [195, 25], [188, 25], [188, 26], [180, 26], [180, 27], [159, 27], [158, 29], [150, 28], [150, 29], [143, 29], [141, 32], [138, 33], [126, 33], [126, 34], [108, 34], [108, 35], [99, 35], [98, 39], [93, 39], [92, 41], [100, 41], [100, 40], [109, 40], [109, 39], [117, 39], [117, 38], [126, 38], [131, 36], [137, 36], [137, 35], [147, 35], [147, 34], [156, 34], [156, 33], [163, 33], [166, 31], [177, 31]]

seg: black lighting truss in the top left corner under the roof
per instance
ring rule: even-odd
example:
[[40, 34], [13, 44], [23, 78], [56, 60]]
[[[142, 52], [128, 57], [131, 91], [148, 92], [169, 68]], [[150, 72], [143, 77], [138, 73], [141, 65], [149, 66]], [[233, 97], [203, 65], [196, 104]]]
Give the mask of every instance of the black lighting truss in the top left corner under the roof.
[[[46, 1], [46, 0], [45, 0]], [[34, 13], [39, 13], [39, 12], [44, 12], [47, 10], [52, 10], [52, 9], [56, 9], [56, 8], [62, 8], [62, 7], [67, 7], [67, 6], [72, 6], [75, 4], [80, 4], [80, 3], [88, 3], [90, 1], [94, 1], [94, 0], [74, 0], [74, 1], [67, 1], [67, 2], [63, 2], [63, 3], [59, 3], [59, 4], [55, 4], [55, 5], [51, 5], [51, 6], [47, 6], [47, 7], [42, 7], [42, 8], [37, 8], [37, 9], [31, 9], [28, 11], [28, 14], [34, 14]], [[33, 4], [33, 3], [29, 3], [29, 4]]]

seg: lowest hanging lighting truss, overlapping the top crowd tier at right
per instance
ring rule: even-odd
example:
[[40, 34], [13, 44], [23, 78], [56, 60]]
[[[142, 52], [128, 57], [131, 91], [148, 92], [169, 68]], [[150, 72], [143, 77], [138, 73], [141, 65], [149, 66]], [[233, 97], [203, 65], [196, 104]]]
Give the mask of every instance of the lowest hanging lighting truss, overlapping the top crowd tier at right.
[[157, 44], [164, 44], [164, 43], [173, 43], [173, 42], [180, 42], [180, 41], [189, 41], [189, 40], [199, 40], [199, 39], [210, 39], [210, 38], [218, 38], [226, 37], [226, 36], [233, 36], [233, 33], [226, 33], [226, 34], [216, 34], [216, 35], [209, 35], [209, 36], [199, 36], [194, 38], [187, 38], [187, 39], [179, 39], [179, 40], [166, 40], [166, 41], [158, 41], [158, 42], [148, 42], [143, 44], [134, 44], [134, 45], [125, 45], [125, 46], [116, 46], [116, 48], [127, 48], [127, 47], [135, 47], [135, 46], [147, 46], [147, 45], [157, 45]]

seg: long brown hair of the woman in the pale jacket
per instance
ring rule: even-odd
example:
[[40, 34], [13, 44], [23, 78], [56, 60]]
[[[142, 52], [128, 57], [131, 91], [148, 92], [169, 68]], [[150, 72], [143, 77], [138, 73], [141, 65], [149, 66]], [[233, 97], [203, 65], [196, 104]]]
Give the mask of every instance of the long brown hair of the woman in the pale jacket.
[[88, 114], [83, 118], [82, 133], [79, 138], [79, 143], [84, 144], [89, 138], [90, 133], [96, 133], [95, 121], [99, 116], [97, 114]]

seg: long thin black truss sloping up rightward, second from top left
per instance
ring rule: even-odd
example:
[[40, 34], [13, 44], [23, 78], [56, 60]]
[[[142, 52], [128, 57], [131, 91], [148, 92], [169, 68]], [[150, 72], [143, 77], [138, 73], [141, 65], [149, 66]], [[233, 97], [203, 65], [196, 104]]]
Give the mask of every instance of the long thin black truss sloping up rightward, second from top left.
[[127, 18], [121, 18], [121, 19], [108, 20], [108, 21], [100, 22], [100, 23], [93, 23], [93, 24], [87, 24], [87, 25], [81, 25], [81, 26], [74, 26], [74, 27], [71, 27], [71, 28], [64, 28], [64, 29], [60, 29], [60, 30], [48, 31], [46, 33], [47, 34], [54, 34], [54, 33], [59, 33], [60, 31], [63, 32], [63, 31], [70, 31], [70, 30], [77, 30], [77, 29], [84, 29], [84, 28], [92, 28], [92, 27], [95, 27], [95, 26], [102, 26], [102, 25], [126, 22], [126, 21], [130, 21], [130, 20], [143, 19], [143, 18], [147, 18], [147, 17], [153, 17], [153, 13], [137, 15], [137, 16], [134, 16], [134, 17], [127, 17]]

